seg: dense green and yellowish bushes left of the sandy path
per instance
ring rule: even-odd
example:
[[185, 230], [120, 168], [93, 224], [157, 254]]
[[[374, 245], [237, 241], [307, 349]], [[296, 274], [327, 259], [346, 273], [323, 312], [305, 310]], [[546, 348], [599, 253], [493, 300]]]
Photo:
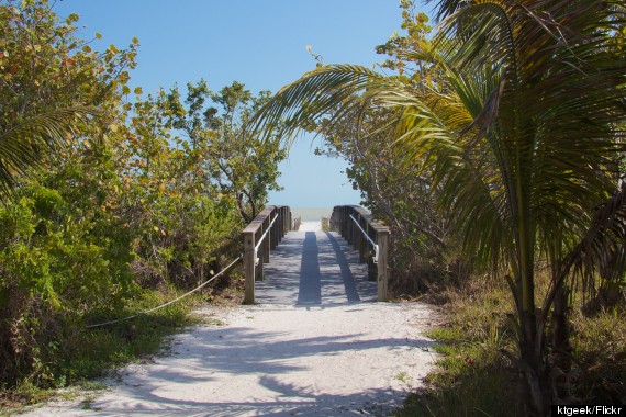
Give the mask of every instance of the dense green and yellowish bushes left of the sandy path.
[[242, 134], [268, 92], [131, 91], [138, 40], [94, 50], [77, 22], [45, 0], [0, 3], [0, 391], [74, 383], [158, 345], [146, 333], [185, 323], [183, 307], [86, 326], [236, 258], [284, 157]]

